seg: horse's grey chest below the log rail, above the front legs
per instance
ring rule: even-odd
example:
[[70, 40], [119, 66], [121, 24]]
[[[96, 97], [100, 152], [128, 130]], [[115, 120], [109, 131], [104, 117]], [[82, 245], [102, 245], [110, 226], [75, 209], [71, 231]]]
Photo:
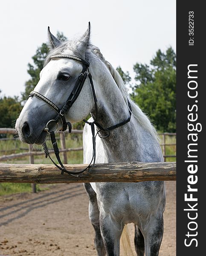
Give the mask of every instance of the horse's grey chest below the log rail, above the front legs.
[[[93, 183], [100, 212], [122, 221], [138, 224], [157, 210], [159, 199], [155, 189], [148, 191], [144, 183]], [[153, 195], [153, 196], [152, 196]], [[152, 198], [151, 198], [152, 196]]]

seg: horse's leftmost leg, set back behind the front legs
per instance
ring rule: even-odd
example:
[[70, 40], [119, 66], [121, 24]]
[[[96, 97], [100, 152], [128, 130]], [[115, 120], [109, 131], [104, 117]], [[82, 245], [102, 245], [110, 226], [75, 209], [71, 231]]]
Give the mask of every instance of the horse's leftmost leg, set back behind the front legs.
[[84, 183], [84, 188], [90, 198], [89, 218], [95, 230], [94, 246], [98, 256], [105, 256], [106, 253], [99, 227], [99, 209], [96, 201], [96, 193], [90, 183]]

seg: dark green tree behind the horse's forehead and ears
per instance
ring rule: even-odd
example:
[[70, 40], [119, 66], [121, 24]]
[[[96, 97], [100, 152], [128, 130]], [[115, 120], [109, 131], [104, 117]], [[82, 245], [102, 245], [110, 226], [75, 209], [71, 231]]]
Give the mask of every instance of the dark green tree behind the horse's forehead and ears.
[[[67, 40], [67, 38], [61, 32], [57, 32], [57, 38], [61, 41]], [[49, 48], [45, 43], [38, 47], [34, 56], [32, 56], [33, 64], [28, 64], [27, 73], [31, 78], [25, 83], [25, 91], [21, 93], [22, 100], [25, 101], [29, 97], [29, 93], [34, 90], [39, 81], [39, 74], [44, 67], [44, 60], [49, 52]]]

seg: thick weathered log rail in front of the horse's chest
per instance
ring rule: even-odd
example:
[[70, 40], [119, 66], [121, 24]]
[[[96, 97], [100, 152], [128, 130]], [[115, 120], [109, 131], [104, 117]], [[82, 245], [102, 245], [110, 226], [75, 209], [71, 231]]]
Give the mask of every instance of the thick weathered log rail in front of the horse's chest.
[[[87, 165], [65, 165], [67, 170], [80, 171]], [[148, 180], [176, 180], [176, 163], [105, 163], [96, 164], [90, 172], [78, 178], [51, 164], [0, 164], [0, 182], [18, 183], [76, 183], [76, 182], [139, 182]]]

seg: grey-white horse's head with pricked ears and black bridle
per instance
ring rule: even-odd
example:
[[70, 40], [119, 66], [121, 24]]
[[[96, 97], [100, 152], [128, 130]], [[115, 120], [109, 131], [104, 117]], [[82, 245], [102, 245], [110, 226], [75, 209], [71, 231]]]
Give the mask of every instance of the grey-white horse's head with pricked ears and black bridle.
[[[41, 70], [40, 80], [24, 105], [15, 126], [20, 140], [29, 144], [44, 143], [46, 131], [65, 130], [65, 123], [83, 120], [94, 108], [92, 88], [86, 78], [83, 78], [84, 86], [78, 91], [78, 96], [73, 97], [73, 104], [67, 109], [64, 106], [68, 97], [71, 99], [74, 91], [76, 93], [78, 90], [79, 79], [82, 79], [79, 78], [80, 74], [87, 73], [89, 64], [85, 61], [85, 56], [89, 54], [90, 23], [84, 35], [76, 41], [59, 41], [52, 35], [49, 27], [48, 38], [49, 55]], [[67, 57], [62, 57], [63, 54]], [[59, 55], [61, 58], [58, 58]]]

